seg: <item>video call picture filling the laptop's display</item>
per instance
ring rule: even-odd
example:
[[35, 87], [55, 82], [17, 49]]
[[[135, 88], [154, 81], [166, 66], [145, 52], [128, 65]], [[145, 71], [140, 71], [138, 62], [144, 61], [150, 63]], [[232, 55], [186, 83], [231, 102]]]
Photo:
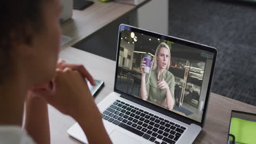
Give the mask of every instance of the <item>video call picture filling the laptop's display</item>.
[[116, 88], [201, 122], [213, 53], [121, 32]]

